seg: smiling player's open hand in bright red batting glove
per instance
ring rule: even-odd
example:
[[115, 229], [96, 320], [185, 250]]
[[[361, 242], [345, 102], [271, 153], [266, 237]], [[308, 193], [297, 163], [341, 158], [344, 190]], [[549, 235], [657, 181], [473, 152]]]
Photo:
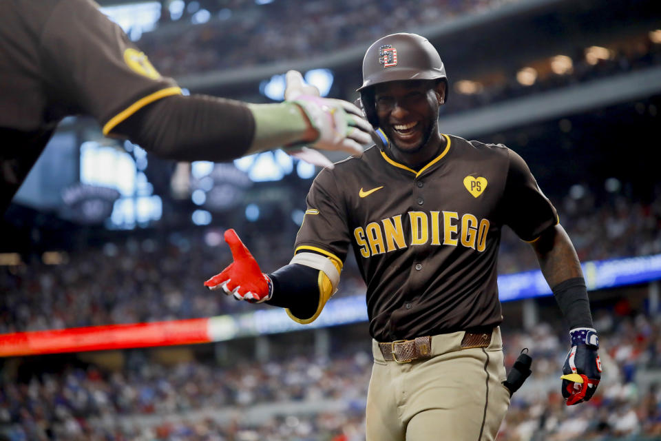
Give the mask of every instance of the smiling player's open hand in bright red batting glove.
[[233, 262], [206, 282], [204, 286], [209, 289], [222, 289], [228, 296], [236, 300], [246, 300], [251, 303], [261, 303], [269, 300], [273, 295], [271, 279], [262, 274], [260, 265], [252, 254], [243, 245], [234, 229], [225, 232], [225, 242], [232, 252]]

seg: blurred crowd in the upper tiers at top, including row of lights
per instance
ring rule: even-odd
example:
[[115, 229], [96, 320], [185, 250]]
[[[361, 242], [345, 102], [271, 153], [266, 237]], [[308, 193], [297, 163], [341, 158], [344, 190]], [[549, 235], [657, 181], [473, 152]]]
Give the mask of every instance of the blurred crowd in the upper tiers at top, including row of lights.
[[[192, 72], [219, 72], [275, 63], [283, 57], [289, 60], [323, 57], [353, 48], [356, 41], [369, 42], [403, 30], [419, 32], [459, 15], [488, 12], [514, 1], [425, 0], [416, 8], [397, 1], [374, 0], [295, 0], [286, 4], [274, 2], [264, 5], [266, 8], [236, 1], [217, 10], [208, 23], [193, 26], [167, 23], [166, 9], [160, 28], [145, 33], [138, 45], [163, 74], [181, 77]], [[197, 11], [193, 9], [193, 13]], [[282, 23], [294, 32], [282, 32]], [[556, 57], [550, 71], [531, 67], [519, 70], [521, 66], [512, 66], [511, 72], [459, 79], [452, 76], [452, 66], [448, 66], [455, 93], [441, 108], [441, 115], [659, 65], [660, 41], [661, 36], [641, 34], [611, 41], [609, 48], [576, 47], [573, 53]], [[251, 48], [249, 52], [243, 50], [246, 45]]]

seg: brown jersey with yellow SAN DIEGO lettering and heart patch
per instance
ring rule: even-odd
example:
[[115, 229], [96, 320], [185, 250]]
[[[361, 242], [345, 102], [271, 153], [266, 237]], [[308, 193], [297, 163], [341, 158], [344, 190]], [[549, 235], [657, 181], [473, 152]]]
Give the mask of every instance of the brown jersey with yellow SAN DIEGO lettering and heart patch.
[[352, 245], [378, 341], [499, 325], [501, 228], [534, 240], [557, 223], [521, 156], [443, 136], [420, 170], [374, 146], [322, 170], [307, 196], [295, 252], [344, 262]]

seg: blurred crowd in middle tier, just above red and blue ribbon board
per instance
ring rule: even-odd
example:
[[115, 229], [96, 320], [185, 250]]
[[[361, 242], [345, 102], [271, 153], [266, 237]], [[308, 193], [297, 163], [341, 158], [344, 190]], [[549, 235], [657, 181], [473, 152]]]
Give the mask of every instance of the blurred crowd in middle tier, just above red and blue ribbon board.
[[[554, 201], [584, 262], [661, 253], [661, 187], [646, 203], [625, 197], [627, 186], [618, 185], [616, 192], [600, 194], [577, 185], [559, 203]], [[265, 228], [268, 223], [246, 223], [238, 232], [268, 272], [291, 259], [293, 236]], [[0, 334], [209, 317], [259, 307], [202, 286], [231, 261], [222, 230], [129, 237], [101, 249], [72, 250], [68, 262], [60, 265], [45, 265], [33, 257], [30, 265], [0, 271]], [[347, 261], [336, 296], [364, 293], [353, 258]], [[532, 249], [505, 229], [499, 274], [536, 268]]]

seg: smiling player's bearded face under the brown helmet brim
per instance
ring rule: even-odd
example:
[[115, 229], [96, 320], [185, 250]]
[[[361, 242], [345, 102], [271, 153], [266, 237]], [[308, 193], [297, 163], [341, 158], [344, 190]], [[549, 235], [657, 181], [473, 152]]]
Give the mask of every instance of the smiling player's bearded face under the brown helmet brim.
[[395, 148], [396, 156], [423, 157], [438, 150], [439, 106], [444, 95], [442, 81], [392, 81], [375, 86], [379, 126]]

